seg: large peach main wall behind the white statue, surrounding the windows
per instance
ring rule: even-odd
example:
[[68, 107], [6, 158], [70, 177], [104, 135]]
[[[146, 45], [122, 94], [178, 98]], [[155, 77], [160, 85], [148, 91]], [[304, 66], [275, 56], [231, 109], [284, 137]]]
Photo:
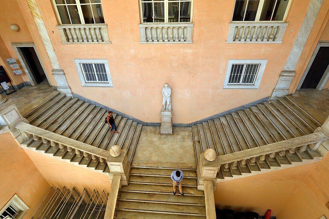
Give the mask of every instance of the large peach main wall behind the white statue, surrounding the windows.
[[[282, 44], [243, 45], [225, 44], [234, 0], [195, 1], [194, 43], [163, 45], [139, 44], [137, 0], [102, 3], [112, 44], [101, 45], [61, 44], [51, 1], [37, 2], [74, 93], [140, 120], [160, 122], [161, 88], [168, 82], [173, 122], [190, 123], [270, 95], [310, 0], [292, 2]], [[28, 13], [27, 7], [21, 9]], [[73, 59], [90, 58], [108, 59], [113, 88], [81, 86]], [[229, 59], [268, 59], [259, 89], [222, 89]]]

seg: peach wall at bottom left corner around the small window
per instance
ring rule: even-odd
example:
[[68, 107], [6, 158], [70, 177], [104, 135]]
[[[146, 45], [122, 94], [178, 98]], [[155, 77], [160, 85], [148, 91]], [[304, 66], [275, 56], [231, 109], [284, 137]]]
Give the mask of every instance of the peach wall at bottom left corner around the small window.
[[0, 139], [0, 209], [17, 194], [30, 207], [24, 218], [31, 218], [50, 185], [10, 132]]

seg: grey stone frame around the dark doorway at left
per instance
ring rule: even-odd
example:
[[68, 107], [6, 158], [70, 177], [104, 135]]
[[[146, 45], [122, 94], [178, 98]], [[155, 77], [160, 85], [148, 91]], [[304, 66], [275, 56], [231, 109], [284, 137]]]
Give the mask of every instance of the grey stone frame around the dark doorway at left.
[[21, 65], [22, 65], [22, 67], [23, 67], [23, 69], [24, 69], [24, 71], [25, 71], [27, 77], [29, 78], [29, 80], [30, 80], [32, 86], [37, 85], [37, 82], [36, 82], [36, 80], [34, 79], [32, 73], [31, 73], [32, 71], [31, 71], [31, 69], [30, 69], [28, 63], [26, 62], [23, 53], [22, 53], [18, 48], [19, 48], [19, 47], [33, 47], [33, 48], [34, 48], [34, 51], [36, 52], [36, 54], [37, 54], [37, 56], [38, 56], [38, 59], [39, 59], [40, 64], [41, 64], [41, 66], [42, 66], [42, 69], [43, 69], [43, 71], [44, 71], [44, 73], [45, 73], [45, 75], [46, 75], [46, 77], [47, 77], [48, 83], [49, 83], [49, 85], [51, 86], [51, 82], [50, 82], [50, 80], [49, 80], [49, 77], [48, 77], [47, 71], [46, 71], [46, 69], [45, 69], [45, 67], [44, 67], [44, 65], [43, 65], [43, 63], [42, 63], [42, 60], [41, 60], [41, 58], [40, 58], [40, 56], [39, 56], [39, 53], [38, 53], [37, 47], [36, 47], [36, 45], [34, 44], [34, 42], [12, 42], [12, 45], [13, 45], [14, 51], [15, 51], [17, 57], [18, 57], [18, 60], [20, 61], [20, 63], [21, 63]]

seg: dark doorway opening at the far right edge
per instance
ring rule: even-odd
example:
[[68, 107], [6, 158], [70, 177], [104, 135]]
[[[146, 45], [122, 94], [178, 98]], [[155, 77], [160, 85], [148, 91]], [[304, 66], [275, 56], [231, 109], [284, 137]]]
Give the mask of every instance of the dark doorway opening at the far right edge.
[[310, 70], [307, 72], [304, 82], [300, 88], [315, 89], [319, 84], [325, 70], [327, 69], [328, 64], [329, 64], [329, 47], [326, 46], [320, 47], [310, 67]]

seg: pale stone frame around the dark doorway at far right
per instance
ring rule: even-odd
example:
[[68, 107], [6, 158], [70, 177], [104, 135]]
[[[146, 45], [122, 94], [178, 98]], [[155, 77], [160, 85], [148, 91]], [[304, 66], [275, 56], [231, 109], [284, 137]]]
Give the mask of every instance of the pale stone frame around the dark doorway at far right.
[[[319, 41], [316, 44], [316, 47], [315, 47], [314, 52], [313, 52], [313, 54], [311, 56], [311, 59], [310, 59], [309, 63], [307, 64], [307, 67], [306, 67], [306, 69], [305, 69], [305, 71], [303, 73], [302, 78], [299, 81], [299, 84], [298, 84], [296, 90], [299, 90], [300, 87], [302, 86], [302, 84], [303, 84], [303, 82], [305, 80], [305, 77], [306, 77], [308, 71], [310, 70], [311, 65], [313, 64], [313, 61], [314, 61], [314, 59], [316, 57], [316, 54], [319, 51], [320, 47], [325, 47], [325, 46], [329, 47], [329, 41]], [[329, 65], [328, 65], [327, 69], [325, 70], [325, 72], [324, 72], [324, 74], [323, 74], [323, 76], [322, 76], [319, 84], [316, 86], [316, 89], [317, 90], [323, 90], [323, 87], [327, 84], [328, 79], [329, 79]]]

